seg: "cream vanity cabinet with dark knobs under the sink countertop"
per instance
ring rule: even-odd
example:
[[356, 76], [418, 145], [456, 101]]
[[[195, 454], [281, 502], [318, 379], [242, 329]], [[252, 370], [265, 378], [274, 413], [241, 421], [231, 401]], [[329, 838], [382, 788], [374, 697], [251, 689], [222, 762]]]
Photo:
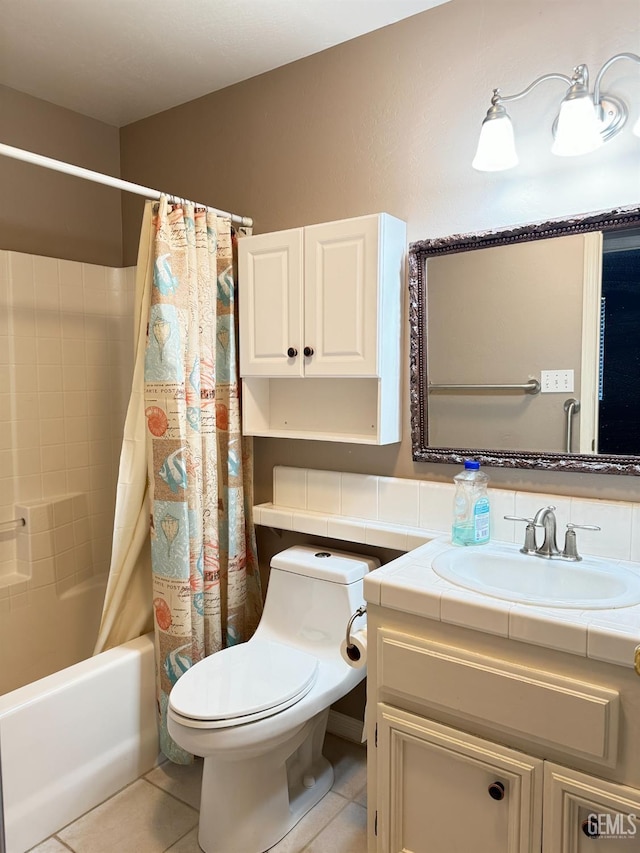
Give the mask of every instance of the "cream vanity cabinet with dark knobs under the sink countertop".
[[633, 670], [367, 618], [369, 853], [640, 853]]

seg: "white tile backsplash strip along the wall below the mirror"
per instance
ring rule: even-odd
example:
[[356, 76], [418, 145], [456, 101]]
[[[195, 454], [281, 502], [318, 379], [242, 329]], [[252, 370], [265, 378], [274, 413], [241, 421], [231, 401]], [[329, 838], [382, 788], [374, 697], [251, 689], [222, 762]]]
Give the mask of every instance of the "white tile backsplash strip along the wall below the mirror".
[[[262, 524], [325, 536], [333, 531], [345, 540], [365, 541], [362, 531], [366, 530], [371, 544], [377, 528], [393, 547], [389, 536], [394, 529], [418, 538], [421, 530], [449, 532], [453, 495], [453, 483], [276, 466], [273, 504], [263, 504], [258, 515]], [[552, 505], [560, 547], [567, 523], [597, 525], [599, 531], [577, 531], [581, 553], [640, 562], [640, 504], [495, 488], [489, 489], [489, 498], [493, 539], [524, 541], [524, 524], [504, 516], [530, 518], [541, 507]]]

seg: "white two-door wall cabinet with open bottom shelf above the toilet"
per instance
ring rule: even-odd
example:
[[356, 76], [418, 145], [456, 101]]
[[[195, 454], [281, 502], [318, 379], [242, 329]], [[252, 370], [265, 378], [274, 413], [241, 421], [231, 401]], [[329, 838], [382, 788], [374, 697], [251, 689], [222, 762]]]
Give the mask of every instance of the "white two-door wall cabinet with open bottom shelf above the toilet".
[[400, 440], [405, 251], [388, 214], [240, 241], [246, 434]]

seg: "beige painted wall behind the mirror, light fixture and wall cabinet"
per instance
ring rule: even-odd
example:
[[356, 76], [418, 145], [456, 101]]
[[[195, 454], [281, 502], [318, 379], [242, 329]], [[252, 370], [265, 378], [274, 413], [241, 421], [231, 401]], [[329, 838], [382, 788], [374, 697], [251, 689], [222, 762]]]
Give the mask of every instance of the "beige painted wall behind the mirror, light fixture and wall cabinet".
[[[639, 35], [637, 0], [452, 0], [123, 128], [123, 177], [251, 215], [257, 231], [385, 210], [408, 222], [410, 240], [637, 203], [631, 134], [586, 158], [547, 152], [555, 82], [513, 105], [519, 170], [482, 174], [470, 162], [495, 86], [517, 91], [578, 62], [595, 74]], [[637, 70], [609, 74], [638, 97]], [[125, 205], [129, 260], [137, 216]], [[270, 497], [276, 464], [448, 480], [456, 466], [411, 461], [407, 376], [401, 444], [258, 439], [257, 498]], [[637, 478], [490, 474], [518, 489], [640, 498]]]

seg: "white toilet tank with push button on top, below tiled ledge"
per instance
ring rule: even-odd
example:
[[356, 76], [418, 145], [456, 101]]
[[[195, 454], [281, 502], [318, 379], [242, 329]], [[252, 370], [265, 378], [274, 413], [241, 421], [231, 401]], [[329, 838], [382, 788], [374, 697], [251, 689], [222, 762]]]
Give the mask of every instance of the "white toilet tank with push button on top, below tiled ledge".
[[365, 603], [363, 578], [379, 565], [375, 557], [324, 545], [296, 545], [276, 554], [258, 633], [315, 654], [322, 647], [339, 651], [350, 616]]

